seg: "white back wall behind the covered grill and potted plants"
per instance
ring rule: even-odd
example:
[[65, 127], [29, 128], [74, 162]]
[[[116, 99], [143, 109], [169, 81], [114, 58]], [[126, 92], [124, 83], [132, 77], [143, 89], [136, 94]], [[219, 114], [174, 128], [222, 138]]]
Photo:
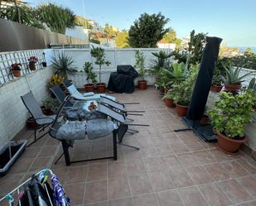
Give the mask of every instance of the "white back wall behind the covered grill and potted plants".
[[[167, 53], [170, 53], [170, 49], [159, 49], [159, 48], [128, 48], [128, 49], [116, 49], [110, 48], [105, 49], [106, 59], [111, 62], [111, 65], [104, 65], [101, 69], [101, 79], [102, 82], [108, 84], [109, 76], [111, 72], [117, 70], [117, 65], [135, 65], [135, 52], [137, 50], [142, 51], [143, 55], [145, 55], [145, 67], [149, 69], [152, 65], [152, 60], [156, 58], [152, 55], [152, 52], [159, 52], [159, 50], [164, 50]], [[94, 58], [89, 53], [89, 49], [63, 49], [63, 50], [54, 50], [54, 54], [58, 54], [59, 52], [64, 52], [65, 55], [69, 55], [75, 62], [75, 66], [77, 67], [78, 73], [70, 73], [69, 79], [72, 79], [75, 86], [78, 88], [83, 88], [84, 84], [86, 84], [86, 75], [83, 66], [85, 65], [85, 61], [89, 61], [93, 64], [94, 72], [98, 74], [99, 79], [99, 65], [94, 64]], [[147, 84], [152, 85], [155, 80], [152, 76], [147, 75], [146, 77]], [[138, 79], [135, 79], [135, 84], [137, 84]]]

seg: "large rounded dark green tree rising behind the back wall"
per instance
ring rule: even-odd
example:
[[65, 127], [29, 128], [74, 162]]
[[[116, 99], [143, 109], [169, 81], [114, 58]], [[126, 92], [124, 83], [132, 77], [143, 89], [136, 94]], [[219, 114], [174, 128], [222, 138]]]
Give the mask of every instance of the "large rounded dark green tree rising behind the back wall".
[[128, 42], [132, 47], [152, 48], [157, 47], [157, 41], [169, 31], [164, 28], [169, 18], [164, 17], [161, 12], [149, 15], [143, 13], [128, 31]]

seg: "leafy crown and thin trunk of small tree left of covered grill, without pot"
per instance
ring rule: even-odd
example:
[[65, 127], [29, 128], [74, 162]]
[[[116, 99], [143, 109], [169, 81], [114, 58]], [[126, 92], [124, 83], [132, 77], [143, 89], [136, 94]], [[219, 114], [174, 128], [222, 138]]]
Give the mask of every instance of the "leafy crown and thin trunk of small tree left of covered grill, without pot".
[[90, 50], [90, 55], [94, 57], [95, 64], [99, 65], [99, 83], [101, 84], [101, 67], [102, 65], [111, 65], [111, 62], [109, 60], [106, 60], [105, 50], [100, 47], [94, 47]]

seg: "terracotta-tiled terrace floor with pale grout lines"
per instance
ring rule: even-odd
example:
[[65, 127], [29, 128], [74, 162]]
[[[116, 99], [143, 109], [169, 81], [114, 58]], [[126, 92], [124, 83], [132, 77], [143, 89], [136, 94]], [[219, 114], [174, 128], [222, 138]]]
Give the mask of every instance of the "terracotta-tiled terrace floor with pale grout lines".
[[[183, 127], [174, 109], [166, 108], [150, 88], [132, 94], [114, 94], [122, 102], [140, 102], [129, 109], [146, 110], [135, 122], [149, 123], [139, 133], [126, 135], [118, 146], [118, 160], [100, 160], [65, 166], [53, 160], [60, 143], [51, 137], [27, 148], [9, 173], [0, 178], [0, 196], [34, 172], [51, 168], [65, 186], [71, 205], [94, 206], [200, 206], [256, 205], [256, 162], [240, 151], [229, 156], [215, 143], [200, 141]], [[31, 136], [27, 132], [25, 137]], [[72, 158], [104, 156], [112, 152], [112, 138], [77, 141]]]

